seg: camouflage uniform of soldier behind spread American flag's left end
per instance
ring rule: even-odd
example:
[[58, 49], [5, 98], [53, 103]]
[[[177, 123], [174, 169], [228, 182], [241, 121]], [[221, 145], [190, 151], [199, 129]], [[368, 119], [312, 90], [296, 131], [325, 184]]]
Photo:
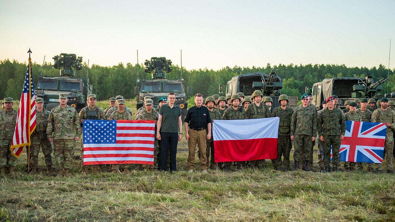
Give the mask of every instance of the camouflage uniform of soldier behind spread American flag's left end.
[[[78, 113], [79, 119], [97, 119], [97, 120], [104, 120], [105, 114], [102, 108], [96, 106], [94, 108], [90, 108], [89, 106], [86, 106], [81, 109]], [[83, 172], [87, 173], [88, 166], [84, 166], [84, 143], [83, 143], [83, 135], [81, 134], [81, 149], [80, 149], [80, 156], [79, 160], [81, 163], [81, 167]], [[95, 173], [99, 169], [99, 165], [92, 165], [93, 172]]]

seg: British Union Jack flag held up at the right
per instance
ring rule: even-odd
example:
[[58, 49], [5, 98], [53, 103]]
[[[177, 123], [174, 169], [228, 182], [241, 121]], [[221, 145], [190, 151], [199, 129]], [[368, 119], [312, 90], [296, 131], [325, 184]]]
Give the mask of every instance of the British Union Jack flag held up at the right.
[[386, 132], [385, 123], [346, 121], [340, 161], [382, 163]]

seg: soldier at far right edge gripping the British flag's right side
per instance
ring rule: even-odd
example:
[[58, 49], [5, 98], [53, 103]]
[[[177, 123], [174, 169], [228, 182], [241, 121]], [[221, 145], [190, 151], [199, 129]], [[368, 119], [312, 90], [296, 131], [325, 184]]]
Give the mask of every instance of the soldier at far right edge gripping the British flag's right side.
[[[392, 170], [392, 152], [394, 147], [393, 133], [392, 129], [395, 128], [395, 111], [388, 109], [388, 99], [382, 98], [380, 100], [380, 109], [376, 109], [372, 113], [372, 122], [383, 122], [387, 125], [386, 142], [384, 144], [384, 149], [386, 151], [386, 169], [387, 173], [394, 173]], [[382, 164], [377, 164], [377, 173], [381, 173]]]

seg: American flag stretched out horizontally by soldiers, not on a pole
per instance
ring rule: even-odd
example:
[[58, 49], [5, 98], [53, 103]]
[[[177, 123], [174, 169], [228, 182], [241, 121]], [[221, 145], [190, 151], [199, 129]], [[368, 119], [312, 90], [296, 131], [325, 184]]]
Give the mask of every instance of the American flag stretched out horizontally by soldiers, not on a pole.
[[154, 164], [154, 136], [154, 121], [84, 120], [84, 165]]

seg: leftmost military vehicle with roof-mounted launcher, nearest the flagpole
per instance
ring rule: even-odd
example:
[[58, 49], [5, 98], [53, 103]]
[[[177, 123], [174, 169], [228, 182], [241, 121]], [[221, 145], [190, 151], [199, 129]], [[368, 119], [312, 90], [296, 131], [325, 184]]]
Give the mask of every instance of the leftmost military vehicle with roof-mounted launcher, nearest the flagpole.
[[61, 53], [53, 57], [53, 68], [60, 70], [60, 77], [42, 76], [38, 78], [35, 92], [43, 98], [44, 107], [51, 110], [59, 105], [59, 94], [67, 93], [67, 105], [78, 112], [87, 106], [87, 96], [92, 94], [92, 85], [88, 77], [76, 78], [75, 70], [82, 69], [82, 57], [75, 54]]

